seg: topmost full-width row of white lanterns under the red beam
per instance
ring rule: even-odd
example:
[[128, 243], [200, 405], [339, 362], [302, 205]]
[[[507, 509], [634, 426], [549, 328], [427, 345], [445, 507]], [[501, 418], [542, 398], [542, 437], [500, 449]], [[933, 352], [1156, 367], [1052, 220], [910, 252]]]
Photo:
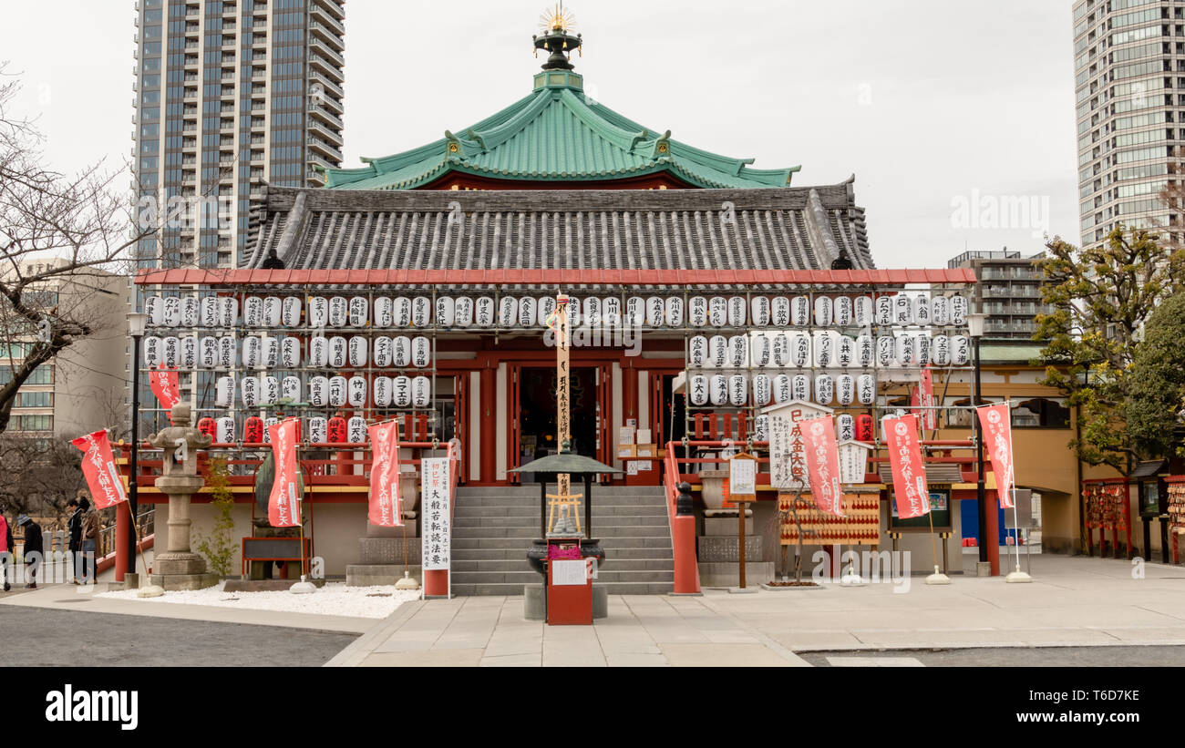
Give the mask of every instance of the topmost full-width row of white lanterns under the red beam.
[[[620, 327], [684, 327], [681, 296], [632, 296], [624, 302], [619, 297], [589, 296], [574, 298], [569, 305], [569, 323]], [[869, 327], [878, 325], [956, 325], [967, 322], [968, 302], [965, 296], [925, 295], [907, 296], [692, 296], [686, 302], [686, 317], [691, 327]], [[233, 296], [148, 296], [145, 314], [155, 327], [235, 327], [239, 318], [239, 302]], [[299, 296], [248, 296], [243, 299], [243, 323], [248, 328], [295, 328], [301, 325], [303, 301]], [[556, 299], [545, 296], [428, 296], [378, 297], [373, 303], [365, 296], [314, 296], [308, 299], [305, 327], [361, 328], [373, 322], [378, 328], [427, 328], [434, 323], [443, 328], [539, 327], [556, 309]]]

